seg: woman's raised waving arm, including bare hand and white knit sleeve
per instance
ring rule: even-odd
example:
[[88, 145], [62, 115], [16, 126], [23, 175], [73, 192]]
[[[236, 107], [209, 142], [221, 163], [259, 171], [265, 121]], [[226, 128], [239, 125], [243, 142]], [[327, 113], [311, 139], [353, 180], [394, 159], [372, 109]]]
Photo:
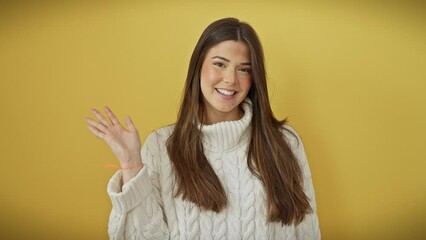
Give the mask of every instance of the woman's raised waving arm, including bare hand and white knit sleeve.
[[110, 145], [122, 168], [114, 174], [107, 188], [112, 202], [108, 224], [110, 239], [133, 239], [136, 236], [140, 239], [168, 239], [160, 196], [156, 136], [151, 134], [139, 150], [139, 135], [130, 117], [126, 119], [129, 129], [126, 130], [112, 111], [105, 109], [112, 124], [96, 110], [92, 112], [100, 122], [87, 118], [86, 121], [88, 128]]

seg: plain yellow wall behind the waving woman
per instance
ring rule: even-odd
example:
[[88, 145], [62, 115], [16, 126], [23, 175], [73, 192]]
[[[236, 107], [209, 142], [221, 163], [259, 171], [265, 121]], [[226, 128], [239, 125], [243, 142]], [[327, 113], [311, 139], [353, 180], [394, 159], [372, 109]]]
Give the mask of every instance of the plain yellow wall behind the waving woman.
[[198, 37], [229, 16], [260, 35], [323, 239], [425, 239], [420, 1], [17, 2], [0, 4], [1, 239], [106, 239], [115, 159], [84, 117], [108, 105], [142, 139], [173, 123]]

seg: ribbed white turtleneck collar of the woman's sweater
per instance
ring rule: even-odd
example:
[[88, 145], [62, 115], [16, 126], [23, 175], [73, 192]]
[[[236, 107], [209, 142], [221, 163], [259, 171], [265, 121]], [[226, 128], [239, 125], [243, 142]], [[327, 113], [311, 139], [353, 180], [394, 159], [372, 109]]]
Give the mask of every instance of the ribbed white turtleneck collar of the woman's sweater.
[[205, 149], [212, 151], [232, 150], [249, 136], [250, 122], [253, 117], [251, 100], [246, 98], [241, 103], [241, 107], [244, 116], [239, 120], [202, 126], [202, 141]]

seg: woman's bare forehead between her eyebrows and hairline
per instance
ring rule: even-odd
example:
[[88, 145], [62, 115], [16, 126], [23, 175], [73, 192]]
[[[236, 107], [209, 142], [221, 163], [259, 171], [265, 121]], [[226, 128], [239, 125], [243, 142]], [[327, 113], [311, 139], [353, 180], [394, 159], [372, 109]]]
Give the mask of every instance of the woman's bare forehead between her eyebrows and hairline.
[[227, 40], [214, 45], [207, 52], [207, 57], [222, 56], [229, 58], [230, 60], [249, 60], [250, 49], [247, 45], [241, 41]]

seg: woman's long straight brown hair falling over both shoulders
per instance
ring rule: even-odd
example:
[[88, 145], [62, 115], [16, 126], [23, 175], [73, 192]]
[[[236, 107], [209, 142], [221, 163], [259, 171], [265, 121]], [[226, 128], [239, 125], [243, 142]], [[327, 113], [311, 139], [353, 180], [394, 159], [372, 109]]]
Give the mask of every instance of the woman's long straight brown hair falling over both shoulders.
[[303, 191], [302, 170], [287, 141], [283, 124], [271, 110], [266, 85], [263, 50], [254, 29], [235, 18], [211, 23], [202, 33], [189, 63], [177, 123], [167, 141], [167, 151], [176, 173], [176, 196], [197, 204], [202, 210], [221, 211], [227, 205], [225, 190], [203, 153], [201, 129], [204, 103], [200, 69], [210, 48], [235, 40], [250, 49], [252, 86], [247, 95], [253, 117], [247, 164], [263, 183], [269, 222], [300, 223], [312, 211]]

